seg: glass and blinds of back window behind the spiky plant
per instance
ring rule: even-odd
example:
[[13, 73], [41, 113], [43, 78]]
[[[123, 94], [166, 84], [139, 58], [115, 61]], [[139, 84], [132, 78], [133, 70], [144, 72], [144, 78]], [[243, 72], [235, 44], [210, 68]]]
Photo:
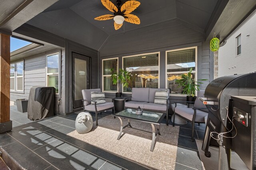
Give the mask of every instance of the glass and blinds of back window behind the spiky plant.
[[188, 73], [193, 68], [192, 75], [196, 76], [196, 47], [166, 51], [167, 88], [170, 93], [183, 94], [183, 87], [178, 87], [176, 80], [179, 75]]

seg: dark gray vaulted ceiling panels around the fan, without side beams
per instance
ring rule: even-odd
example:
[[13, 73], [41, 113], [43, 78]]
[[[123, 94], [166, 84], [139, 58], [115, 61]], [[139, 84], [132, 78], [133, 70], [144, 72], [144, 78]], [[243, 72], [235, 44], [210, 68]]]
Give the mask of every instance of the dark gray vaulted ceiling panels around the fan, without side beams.
[[[136, 31], [175, 18], [194, 26], [198, 31], [204, 30], [217, 2], [217, 0], [139, 1], [140, 6], [132, 14], [140, 18], [140, 25], [124, 22], [119, 30], [114, 29], [113, 20], [94, 20], [97, 16], [112, 14], [100, 0], [59, 0], [27, 24], [98, 50], [108, 36]], [[113, 0], [112, 2], [115, 4]]]

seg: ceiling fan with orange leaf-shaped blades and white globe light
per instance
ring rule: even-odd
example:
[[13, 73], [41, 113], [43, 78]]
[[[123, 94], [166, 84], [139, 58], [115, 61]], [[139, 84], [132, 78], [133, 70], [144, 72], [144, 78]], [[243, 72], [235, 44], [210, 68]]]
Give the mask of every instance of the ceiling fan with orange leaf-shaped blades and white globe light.
[[114, 19], [114, 28], [115, 30], [118, 30], [122, 27], [123, 22], [130, 22], [132, 24], [140, 24], [140, 19], [138, 16], [130, 14], [132, 11], [134, 11], [139, 5], [140, 2], [136, 0], [129, 0], [126, 1], [122, 6], [121, 0], [117, 0], [116, 4], [117, 7], [110, 1], [110, 0], [101, 0], [102, 4], [111, 12], [114, 12], [114, 15], [106, 14], [102, 16], [98, 16], [94, 18], [95, 20], [110, 20]]

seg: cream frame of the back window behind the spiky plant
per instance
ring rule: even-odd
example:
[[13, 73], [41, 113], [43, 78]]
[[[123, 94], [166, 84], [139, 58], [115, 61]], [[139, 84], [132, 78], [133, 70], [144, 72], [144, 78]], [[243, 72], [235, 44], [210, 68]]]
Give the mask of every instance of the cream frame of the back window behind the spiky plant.
[[[179, 49], [172, 49], [165, 51], [165, 88], [168, 89], [168, 74], [183, 74], [188, 73], [188, 71], [175, 71], [175, 72], [168, 72], [167, 71], [167, 53], [170, 51], [180, 51], [180, 50], [186, 50], [186, 49], [195, 49], [195, 71], [192, 71], [192, 73], [195, 73], [195, 79], [197, 80], [197, 58], [198, 58], [198, 48], [197, 46], [194, 47], [186, 47], [186, 48], [179, 48]], [[197, 84], [197, 83], [196, 83]], [[170, 91], [171, 92], [171, 91]], [[186, 94], [176, 94], [176, 93], [170, 93], [172, 96], [186, 96]], [[197, 95], [197, 91], [196, 91]]]

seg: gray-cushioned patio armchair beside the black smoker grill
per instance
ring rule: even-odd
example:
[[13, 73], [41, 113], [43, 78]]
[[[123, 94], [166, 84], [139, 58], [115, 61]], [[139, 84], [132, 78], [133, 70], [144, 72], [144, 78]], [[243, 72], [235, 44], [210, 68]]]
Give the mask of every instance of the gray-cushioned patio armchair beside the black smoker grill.
[[[204, 90], [198, 91], [195, 102], [175, 102], [174, 114], [173, 114], [173, 125], [175, 123], [175, 115], [181, 117], [182, 119], [192, 123], [192, 137], [191, 140], [194, 141], [194, 125], [195, 123], [205, 123], [204, 117], [208, 116], [208, 109], [206, 106], [199, 100], [199, 97], [204, 97]], [[178, 107], [178, 103], [194, 103], [193, 108], [188, 107]]]

